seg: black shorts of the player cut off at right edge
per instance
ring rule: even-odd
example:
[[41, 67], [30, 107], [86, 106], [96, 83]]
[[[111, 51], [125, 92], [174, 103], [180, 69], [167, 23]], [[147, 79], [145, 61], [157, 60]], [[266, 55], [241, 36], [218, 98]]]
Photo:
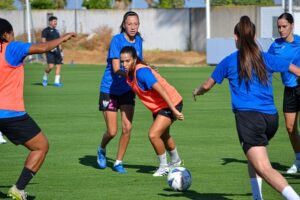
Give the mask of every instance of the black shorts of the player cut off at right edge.
[[283, 112], [295, 113], [300, 111], [300, 86], [285, 87], [283, 95]]

